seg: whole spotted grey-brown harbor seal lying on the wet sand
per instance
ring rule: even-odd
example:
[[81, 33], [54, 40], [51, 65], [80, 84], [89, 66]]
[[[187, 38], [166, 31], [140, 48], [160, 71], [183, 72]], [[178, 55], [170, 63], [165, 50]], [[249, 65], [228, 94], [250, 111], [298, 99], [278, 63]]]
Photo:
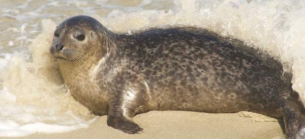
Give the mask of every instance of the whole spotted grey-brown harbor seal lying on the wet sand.
[[152, 110], [265, 114], [284, 120], [287, 138], [305, 125], [280, 62], [206, 29], [126, 35], [75, 16], [56, 27], [50, 53], [74, 98], [127, 133], [142, 131], [132, 118]]

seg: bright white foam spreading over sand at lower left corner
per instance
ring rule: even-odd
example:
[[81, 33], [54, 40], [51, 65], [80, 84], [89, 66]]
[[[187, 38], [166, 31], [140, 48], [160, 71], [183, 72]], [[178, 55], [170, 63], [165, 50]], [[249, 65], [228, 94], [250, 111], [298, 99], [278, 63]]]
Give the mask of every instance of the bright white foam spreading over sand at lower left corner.
[[17, 96], [11, 94], [6, 87], [0, 90], [0, 98], [2, 99], [0, 106], [5, 106], [0, 107], [0, 136], [65, 132], [88, 127], [97, 118], [84, 120], [73, 114], [71, 110], [59, 112], [56, 108], [39, 108], [31, 104], [20, 105], [17, 102]]

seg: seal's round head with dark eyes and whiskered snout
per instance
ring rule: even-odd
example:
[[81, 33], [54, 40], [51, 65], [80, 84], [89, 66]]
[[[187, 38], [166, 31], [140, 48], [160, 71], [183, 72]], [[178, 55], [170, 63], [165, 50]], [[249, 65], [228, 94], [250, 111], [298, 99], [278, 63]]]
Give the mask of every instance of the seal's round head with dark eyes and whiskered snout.
[[[75, 16], [60, 23], [54, 32], [50, 53], [57, 60], [79, 61], [103, 49], [108, 30], [89, 16]], [[98, 52], [98, 53], [99, 53]]]

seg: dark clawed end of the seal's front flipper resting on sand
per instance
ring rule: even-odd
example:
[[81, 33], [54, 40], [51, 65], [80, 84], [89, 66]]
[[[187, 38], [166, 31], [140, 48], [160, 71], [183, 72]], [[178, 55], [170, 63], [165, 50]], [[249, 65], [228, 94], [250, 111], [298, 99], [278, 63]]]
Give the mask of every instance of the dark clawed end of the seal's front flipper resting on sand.
[[125, 117], [113, 117], [108, 115], [107, 124], [108, 126], [130, 134], [139, 133], [143, 130], [138, 124]]

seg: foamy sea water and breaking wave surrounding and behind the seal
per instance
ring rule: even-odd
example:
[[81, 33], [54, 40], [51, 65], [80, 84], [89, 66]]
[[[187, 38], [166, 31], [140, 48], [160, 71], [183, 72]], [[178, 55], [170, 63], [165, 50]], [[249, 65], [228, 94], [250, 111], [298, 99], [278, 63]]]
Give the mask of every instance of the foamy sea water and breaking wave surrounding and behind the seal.
[[305, 100], [303, 0], [0, 1], [0, 136], [63, 132], [97, 118], [70, 95], [50, 57], [55, 27], [88, 15], [114, 32], [195, 26], [282, 61]]

